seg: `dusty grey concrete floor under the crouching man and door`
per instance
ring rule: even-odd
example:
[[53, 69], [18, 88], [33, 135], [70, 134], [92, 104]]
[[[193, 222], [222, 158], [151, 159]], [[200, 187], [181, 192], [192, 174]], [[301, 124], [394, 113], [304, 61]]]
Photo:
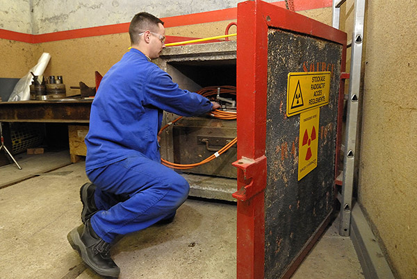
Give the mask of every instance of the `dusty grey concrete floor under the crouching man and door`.
[[[81, 223], [84, 162], [70, 164], [68, 151], [15, 158], [22, 170], [0, 167], [0, 278], [100, 278], [67, 242]], [[336, 225], [293, 278], [363, 278]], [[174, 222], [125, 236], [112, 255], [120, 278], [236, 278], [236, 205], [188, 199]]]

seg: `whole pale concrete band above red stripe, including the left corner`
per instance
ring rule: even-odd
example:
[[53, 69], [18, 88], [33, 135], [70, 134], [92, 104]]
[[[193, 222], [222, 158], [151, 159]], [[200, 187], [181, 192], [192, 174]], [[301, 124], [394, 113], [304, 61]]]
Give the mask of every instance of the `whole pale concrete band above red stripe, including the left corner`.
[[[265, 0], [276, 2], [277, 0]], [[240, 0], [0, 0], [0, 28], [43, 34], [78, 28], [130, 22], [137, 12], [147, 11], [156, 17], [189, 15], [234, 8]]]

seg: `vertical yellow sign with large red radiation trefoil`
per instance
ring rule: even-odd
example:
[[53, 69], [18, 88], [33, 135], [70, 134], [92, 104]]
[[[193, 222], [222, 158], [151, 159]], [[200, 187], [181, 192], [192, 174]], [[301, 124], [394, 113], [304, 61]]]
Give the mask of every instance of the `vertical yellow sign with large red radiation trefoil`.
[[298, 180], [317, 167], [318, 124], [320, 108], [300, 115], [300, 142], [298, 144]]

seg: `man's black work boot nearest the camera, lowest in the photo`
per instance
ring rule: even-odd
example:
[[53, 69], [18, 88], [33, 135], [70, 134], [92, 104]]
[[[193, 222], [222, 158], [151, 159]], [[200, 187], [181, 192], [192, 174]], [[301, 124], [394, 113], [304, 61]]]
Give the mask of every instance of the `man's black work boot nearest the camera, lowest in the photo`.
[[110, 257], [111, 245], [101, 239], [91, 227], [90, 219], [67, 235], [72, 248], [92, 270], [101, 276], [117, 278], [120, 268]]

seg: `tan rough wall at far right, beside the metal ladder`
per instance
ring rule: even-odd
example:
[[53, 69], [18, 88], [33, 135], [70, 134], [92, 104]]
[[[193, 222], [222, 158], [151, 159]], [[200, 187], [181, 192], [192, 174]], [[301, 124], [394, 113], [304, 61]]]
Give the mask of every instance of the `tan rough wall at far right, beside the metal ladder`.
[[368, 1], [359, 202], [399, 278], [417, 278], [417, 2]]

